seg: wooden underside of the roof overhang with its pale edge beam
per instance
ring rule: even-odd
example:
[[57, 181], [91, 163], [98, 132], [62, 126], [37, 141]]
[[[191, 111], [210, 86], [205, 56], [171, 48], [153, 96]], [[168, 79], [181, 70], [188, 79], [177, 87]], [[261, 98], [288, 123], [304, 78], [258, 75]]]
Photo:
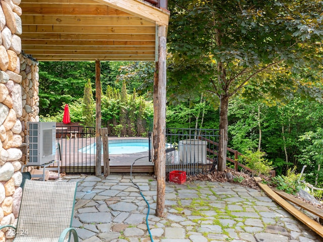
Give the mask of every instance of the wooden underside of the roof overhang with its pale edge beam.
[[155, 61], [169, 12], [138, 0], [22, 0], [22, 50], [37, 61]]

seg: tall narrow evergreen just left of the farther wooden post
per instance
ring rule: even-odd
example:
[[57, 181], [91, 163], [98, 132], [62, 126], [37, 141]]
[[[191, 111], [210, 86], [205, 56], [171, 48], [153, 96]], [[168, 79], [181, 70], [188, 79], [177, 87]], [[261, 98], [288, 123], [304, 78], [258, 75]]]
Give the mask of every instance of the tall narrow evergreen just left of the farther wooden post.
[[84, 119], [84, 125], [88, 127], [94, 127], [94, 99], [92, 93], [92, 85], [90, 79], [84, 86], [84, 96], [82, 105], [82, 114]]

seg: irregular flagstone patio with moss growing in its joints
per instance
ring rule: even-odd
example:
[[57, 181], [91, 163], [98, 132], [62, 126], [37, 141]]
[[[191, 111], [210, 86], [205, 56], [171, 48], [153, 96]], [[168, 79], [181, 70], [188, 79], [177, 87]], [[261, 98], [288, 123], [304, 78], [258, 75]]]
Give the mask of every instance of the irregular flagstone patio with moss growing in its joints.
[[[323, 242], [262, 191], [230, 183], [166, 183], [165, 216], [156, 217], [156, 180], [148, 174], [132, 177], [149, 203], [154, 242]], [[79, 241], [151, 241], [147, 204], [129, 174], [59, 180], [78, 181], [72, 226]]]

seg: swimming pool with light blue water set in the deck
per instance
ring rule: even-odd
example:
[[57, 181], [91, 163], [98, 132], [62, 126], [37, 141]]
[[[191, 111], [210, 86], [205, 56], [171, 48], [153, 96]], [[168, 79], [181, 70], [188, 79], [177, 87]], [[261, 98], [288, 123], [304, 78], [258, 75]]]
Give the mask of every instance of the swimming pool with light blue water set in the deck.
[[[110, 155], [140, 153], [148, 150], [149, 145], [148, 140], [146, 139], [109, 140]], [[87, 154], [95, 154], [96, 145], [95, 143], [93, 143], [79, 149], [78, 151]], [[101, 153], [103, 154], [103, 150], [101, 151]]]

